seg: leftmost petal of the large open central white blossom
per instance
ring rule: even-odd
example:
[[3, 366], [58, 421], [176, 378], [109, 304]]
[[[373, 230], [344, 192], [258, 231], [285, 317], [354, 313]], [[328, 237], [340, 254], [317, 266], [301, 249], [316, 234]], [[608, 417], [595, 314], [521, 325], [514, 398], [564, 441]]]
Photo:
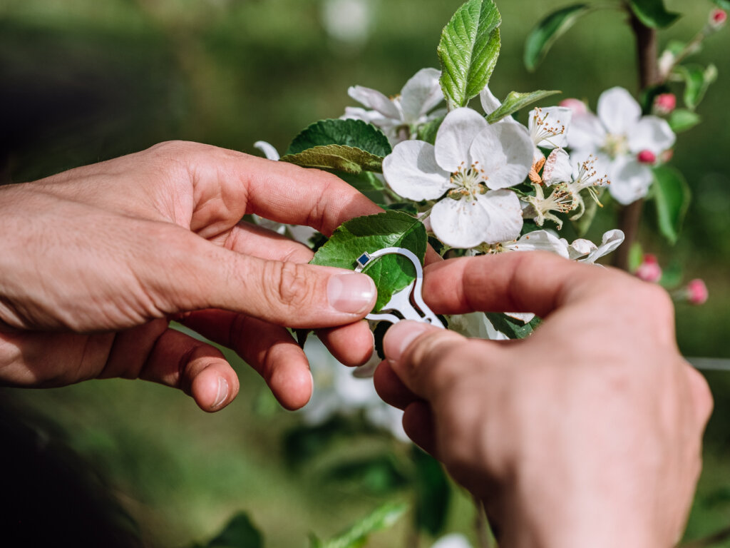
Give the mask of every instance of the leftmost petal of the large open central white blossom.
[[434, 159], [434, 145], [424, 141], [397, 144], [383, 160], [383, 175], [396, 194], [418, 202], [437, 199], [453, 188], [450, 173]]

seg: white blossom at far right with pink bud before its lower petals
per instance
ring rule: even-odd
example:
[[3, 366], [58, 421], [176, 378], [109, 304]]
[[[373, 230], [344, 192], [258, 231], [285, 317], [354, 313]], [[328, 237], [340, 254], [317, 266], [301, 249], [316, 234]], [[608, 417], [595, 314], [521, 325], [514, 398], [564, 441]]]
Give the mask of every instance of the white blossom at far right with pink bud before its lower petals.
[[598, 115], [574, 116], [568, 132], [574, 156], [596, 156], [596, 170], [607, 173], [610, 193], [623, 205], [646, 196], [653, 181], [651, 166], [675, 140], [669, 123], [642, 116], [639, 103], [623, 88], [604, 91]]

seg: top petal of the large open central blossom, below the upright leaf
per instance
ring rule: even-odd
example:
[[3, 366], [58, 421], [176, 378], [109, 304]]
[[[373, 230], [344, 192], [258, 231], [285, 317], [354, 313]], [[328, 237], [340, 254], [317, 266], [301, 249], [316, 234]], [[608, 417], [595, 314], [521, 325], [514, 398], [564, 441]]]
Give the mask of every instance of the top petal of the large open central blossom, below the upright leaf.
[[455, 173], [461, 164], [470, 164], [472, 141], [489, 123], [476, 110], [457, 108], [444, 118], [436, 134], [436, 161], [442, 169]]

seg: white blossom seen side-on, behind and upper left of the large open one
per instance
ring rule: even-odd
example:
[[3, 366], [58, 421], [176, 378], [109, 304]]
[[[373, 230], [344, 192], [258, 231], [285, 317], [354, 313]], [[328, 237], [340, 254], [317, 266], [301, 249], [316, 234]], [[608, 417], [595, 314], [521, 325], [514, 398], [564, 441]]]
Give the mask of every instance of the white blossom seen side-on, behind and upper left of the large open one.
[[412, 128], [445, 113], [444, 110], [430, 113], [444, 100], [439, 77], [441, 71], [437, 69], [420, 69], [393, 98], [371, 88], [353, 85], [347, 94], [367, 109], [347, 107], [342, 118], [356, 118], [380, 127], [393, 144], [410, 139]]

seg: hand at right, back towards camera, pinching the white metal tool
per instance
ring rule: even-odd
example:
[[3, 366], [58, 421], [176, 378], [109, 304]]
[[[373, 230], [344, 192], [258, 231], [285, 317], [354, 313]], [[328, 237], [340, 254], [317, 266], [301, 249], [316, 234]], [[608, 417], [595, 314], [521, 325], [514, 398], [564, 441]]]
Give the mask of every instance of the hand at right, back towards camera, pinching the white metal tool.
[[483, 501], [500, 546], [679, 540], [712, 397], [677, 351], [663, 290], [513, 253], [428, 267], [423, 294], [437, 313], [545, 319], [502, 342], [401, 322], [375, 376], [411, 438]]

